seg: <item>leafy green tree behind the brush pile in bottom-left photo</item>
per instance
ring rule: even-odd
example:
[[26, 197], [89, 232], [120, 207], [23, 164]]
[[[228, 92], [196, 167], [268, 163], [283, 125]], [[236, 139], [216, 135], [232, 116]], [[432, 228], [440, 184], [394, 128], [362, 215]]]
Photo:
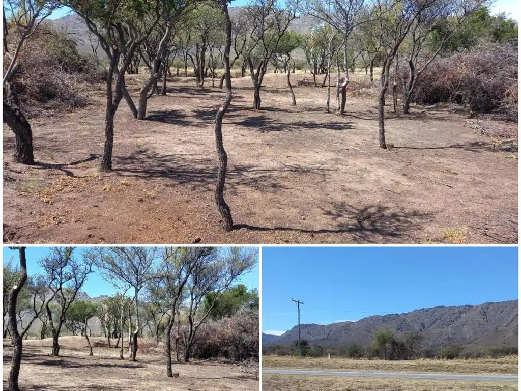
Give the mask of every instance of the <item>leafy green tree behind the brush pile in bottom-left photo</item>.
[[208, 316], [213, 320], [230, 317], [244, 306], [253, 310], [258, 310], [259, 308], [259, 296], [257, 290], [252, 289], [251, 291], [248, 291], [246, 286], [243, 284], [232, 287], [224, 292], [224, 294], [218, 297], [216, 296], [218, 296], [217, 292], [206, 294], [202, 306], [202, 311], [207, 312], [209, 310]]

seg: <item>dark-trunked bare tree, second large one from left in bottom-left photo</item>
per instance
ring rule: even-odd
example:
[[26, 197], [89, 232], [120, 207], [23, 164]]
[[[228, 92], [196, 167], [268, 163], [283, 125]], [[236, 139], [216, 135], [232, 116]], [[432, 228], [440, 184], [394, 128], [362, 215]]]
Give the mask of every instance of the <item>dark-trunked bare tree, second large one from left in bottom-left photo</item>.
[[[86, 259], [78, 261], [73, 256], [73, 247], [54, 247], [39, 263], [45, 271], [47, 286], [52, 294], [45, 303], [47, 319], [53, 333], [53, 356], [58, 356], [60, 346], [58, 338], [61, 327], [65, 323], [66, 313], [76, 299], [78, 292], [92, 273], [92, 263]], [[59, 306], [58, 319], [53, 320], [51, 300], [57, 300]]]

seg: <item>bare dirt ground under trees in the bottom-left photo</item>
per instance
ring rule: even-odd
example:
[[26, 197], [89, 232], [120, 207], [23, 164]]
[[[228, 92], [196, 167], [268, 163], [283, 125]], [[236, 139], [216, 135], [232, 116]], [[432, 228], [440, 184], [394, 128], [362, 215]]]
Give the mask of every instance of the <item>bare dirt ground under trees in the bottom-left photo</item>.
[[[91, 338], [105, 342], [102, 338]], [[138, 361], [119, 359], [119, 349], [94, 347], [94, 356], [84, 337], [60, 337], [60, 357], [50, 355], [52, 339], [24, 340], [19, 385], [23, 390], [258, 390], [254, 374], [232, 370], [213, 362], [173, 363], [179, 378], [166, 376], [165, 359], [158, 352], [140, 353]], [[138, 344], [139, 347], [139, 344]], [[4, 390], [8, 389], [12, 348], [4, 339]], [[127, 353], [127, 352], [126, 352]], [[127, 355], [128, 356], [128, 355]]]

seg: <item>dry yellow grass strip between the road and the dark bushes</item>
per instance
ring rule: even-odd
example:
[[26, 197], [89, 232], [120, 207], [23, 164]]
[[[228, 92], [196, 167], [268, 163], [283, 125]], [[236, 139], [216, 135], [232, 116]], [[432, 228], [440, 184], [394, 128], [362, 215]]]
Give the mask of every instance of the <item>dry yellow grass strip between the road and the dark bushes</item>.
[[355, 360], [263, 356], [263, 368], [305, 369], [313, 371], [418, 372], [517, 375], [517, 356], [469, 360]]

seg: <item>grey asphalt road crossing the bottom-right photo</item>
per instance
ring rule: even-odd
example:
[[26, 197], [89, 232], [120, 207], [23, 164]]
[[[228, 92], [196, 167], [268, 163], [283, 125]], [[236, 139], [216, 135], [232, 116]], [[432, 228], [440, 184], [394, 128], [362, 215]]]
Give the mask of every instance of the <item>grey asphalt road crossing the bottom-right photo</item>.
[[410, 379], [436, 380], [470, 380], [489, 382], [517, 382], [514, 375], [460, 375], [454, 373], [388, 373], [388, 372], [335, 372], [335, 371], [304, 371], [296, 369], [263, 369], [262, 373], [274, 375], [305, 375], [305, 376], [343, 376], [343, 377], [402, 377]]

